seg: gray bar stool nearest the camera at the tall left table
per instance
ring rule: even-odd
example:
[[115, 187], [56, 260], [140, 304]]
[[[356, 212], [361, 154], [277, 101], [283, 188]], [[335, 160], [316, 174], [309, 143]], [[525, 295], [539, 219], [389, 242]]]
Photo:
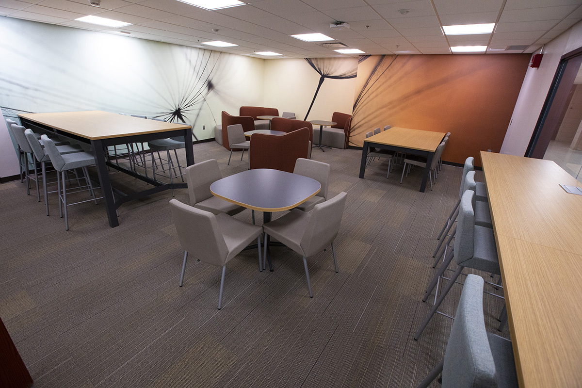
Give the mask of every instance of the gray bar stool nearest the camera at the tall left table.
[[[55, 143], [49, 139], [46, 135], [42, 135], [41, 137], [42, 143], [44, 144], [45, 149], [47, 149], [47, 153], [49, 158], [51, 158], [52, 166], [55, 170], [58, 171], [56, 175], [56, 184], [58, 185], [58, 197], [59, 197], [59, 212], [61, 213], [61, 218], [63, 216], [63, 207], [65, 208], [65, 227], [66, 230], [69, 230], [69, 212], [68, 207], [75, 204], [80, 204], [81, 202], [87, 201], [79, 201], [74, 202], [73, 204], [69, 204], [67, 202], [67, 189], [66, 189], [66, 175], [65, 172], [67, 170], [73, 170], [80, 168], [83, 170], [83, 174], [85, 176], [85, 180], [87, 184], [85, 186], [73, 187], [75, 193], [79, 191], [88, 190], [90, 191], [91, 195], [93, 196], [93, 200], [95, 204], [97, 204], [97, 200], [100, 198], [95, 197], [95, 191], [93, 187], [93, 183], [91, 183], [91, 179], [89, 178], [89, 173], [87, 171], [87, 166], [91, 166], [95, 164], [95, 158], [93, 154], [88, 152], [74, 152], [74, 154], [61, 154], [56, 148]], [[60, 174], [59, 174], [60, 173]], [[62, 180], [62, 188], [61, 188], [61, 180]], [[87, 187], [83, 189], [83, 187]], [[61, 194], [62, 191], [62, 194]]]

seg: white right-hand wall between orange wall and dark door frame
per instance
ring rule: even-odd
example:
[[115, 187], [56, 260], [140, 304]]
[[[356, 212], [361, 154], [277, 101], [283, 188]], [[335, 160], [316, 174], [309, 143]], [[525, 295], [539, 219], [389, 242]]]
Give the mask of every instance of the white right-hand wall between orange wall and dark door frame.
[[502, 154], [523, 156], [526, 153], [560, 58], [579, 47], [582, 47], [582, 22], [545, 45], [540, 67], [527, 69], [503, 140]]

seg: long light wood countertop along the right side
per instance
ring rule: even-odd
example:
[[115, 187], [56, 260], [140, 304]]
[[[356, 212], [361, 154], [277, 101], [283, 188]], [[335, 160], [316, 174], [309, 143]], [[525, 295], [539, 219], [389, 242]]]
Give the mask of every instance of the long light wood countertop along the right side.
[[553, 161], [481, 151], [520, 387], [582, 386], [582, 187]]

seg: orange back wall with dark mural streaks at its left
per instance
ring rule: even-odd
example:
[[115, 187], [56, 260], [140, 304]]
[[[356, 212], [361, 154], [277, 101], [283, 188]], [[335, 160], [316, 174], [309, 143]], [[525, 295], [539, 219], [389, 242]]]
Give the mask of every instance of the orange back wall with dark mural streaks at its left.
[[499, 152], [530, 54], [372, 55], [358, 65], [350, 145], [390, 124], [449, 132], [443, 160]]

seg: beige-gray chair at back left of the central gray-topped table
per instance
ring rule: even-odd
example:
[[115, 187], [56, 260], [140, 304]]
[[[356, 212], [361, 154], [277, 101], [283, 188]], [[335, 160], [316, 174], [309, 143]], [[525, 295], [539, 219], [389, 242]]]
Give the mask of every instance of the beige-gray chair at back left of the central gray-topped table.
[[186, 182], [190, 205], [214, 214], [226, 213], [233, 216], [244, 210], [242, 206], [215, 197], [210, 191], [210, 185], [222, 179], [216, 159], [198, 162], [186, 168]]

